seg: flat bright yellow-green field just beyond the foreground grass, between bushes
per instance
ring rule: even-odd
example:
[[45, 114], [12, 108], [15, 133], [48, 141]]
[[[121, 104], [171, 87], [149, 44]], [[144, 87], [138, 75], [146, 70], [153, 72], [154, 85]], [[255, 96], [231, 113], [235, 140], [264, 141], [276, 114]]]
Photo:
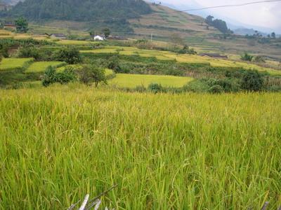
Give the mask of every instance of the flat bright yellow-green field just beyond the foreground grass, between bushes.
[[108, 83], [117, 87], [136, 87], [141, 85], [148, 87], [150, 83], [161, 84], [163, 87], [183, 87], [183, 85], [192, 80], [192, 78], [181, 76], [117, 73], [116, 77], [109, 80]]

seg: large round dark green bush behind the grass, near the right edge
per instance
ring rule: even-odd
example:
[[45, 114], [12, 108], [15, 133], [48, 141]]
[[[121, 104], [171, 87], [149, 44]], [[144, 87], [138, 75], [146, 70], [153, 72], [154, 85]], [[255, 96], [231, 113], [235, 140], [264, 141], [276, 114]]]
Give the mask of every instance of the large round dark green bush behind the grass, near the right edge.
[[260, 91], [263, 88], [263, 77], [258, 71], [247, 71], [242, 77], [241, 87], [247, 91]]

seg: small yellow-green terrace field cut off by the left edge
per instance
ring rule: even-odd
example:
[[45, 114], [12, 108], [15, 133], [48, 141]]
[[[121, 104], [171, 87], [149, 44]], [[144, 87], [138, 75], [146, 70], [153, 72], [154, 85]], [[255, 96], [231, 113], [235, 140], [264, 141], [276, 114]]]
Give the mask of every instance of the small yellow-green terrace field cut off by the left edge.
[[0, 63], [0, 71], [22, 68], [29, 62], [32, 62], [32, 60], [33, 58], [4, 58]]

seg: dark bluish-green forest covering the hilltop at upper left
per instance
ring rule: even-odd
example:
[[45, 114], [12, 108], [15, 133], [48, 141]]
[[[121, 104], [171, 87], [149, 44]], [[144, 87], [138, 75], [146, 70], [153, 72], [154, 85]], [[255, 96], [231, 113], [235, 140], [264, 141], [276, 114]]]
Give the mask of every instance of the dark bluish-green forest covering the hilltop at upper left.
[[26, 17], [29, 20], [79, 20], [136, 18], [151, 13], [143, 0], [25, 0], [2, 16]]

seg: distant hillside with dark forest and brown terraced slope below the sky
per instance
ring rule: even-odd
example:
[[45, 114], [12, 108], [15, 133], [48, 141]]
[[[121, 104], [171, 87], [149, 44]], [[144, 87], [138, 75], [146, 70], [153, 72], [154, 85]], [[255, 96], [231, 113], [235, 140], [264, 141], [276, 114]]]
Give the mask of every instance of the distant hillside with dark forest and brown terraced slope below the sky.
[[83, 0], [79, 3], [63, 0], [58, 5], [58, 0], [26, 0], [18, 3], [10, 15], [29, 18], [32, 22], [30, 32], [35, 34], [68, 34], [72, 31], [72, 34], [85, 36], [89, 31], [100, 34], [102, 29], [108, 27], [115, 36], [152, 38], [168, 43], [177, 39], [195, 47], [197, 52], [218, 52], [236, 57], [249, 52], [281, 60], [280, 38], [262, 40], [239, 35], [224, 36], [214, 27], [207, 26], [200, 16], [178, 13], [169, 7], [144, 1]]

